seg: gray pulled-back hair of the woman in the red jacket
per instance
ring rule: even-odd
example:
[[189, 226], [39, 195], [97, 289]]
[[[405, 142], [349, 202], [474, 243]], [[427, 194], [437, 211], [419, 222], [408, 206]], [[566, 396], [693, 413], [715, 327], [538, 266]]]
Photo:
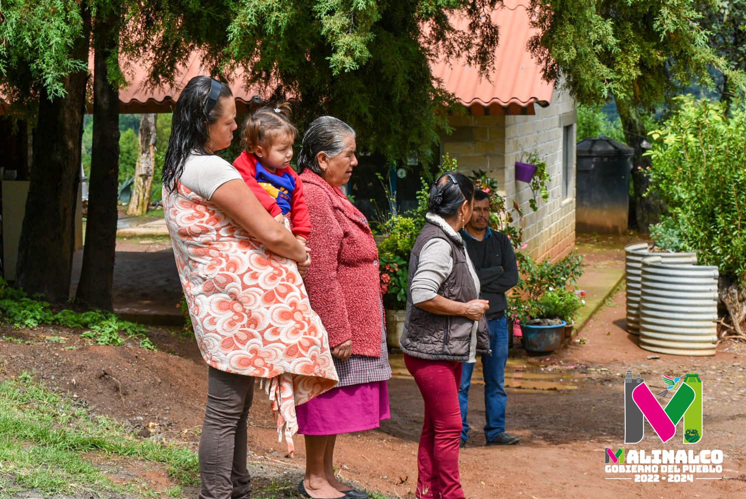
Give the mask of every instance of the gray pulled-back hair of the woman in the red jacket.
[[327, 158], [334, 158], [345, 150], [345, 138], [355, 137], [350, 125], [332, 116], [322, 116], [313, 120], [303, 134], [301, 152], [298, 153], [298, 173], [310, 168], [316, 175], [322, 175], [316, 156], [323, 152]]

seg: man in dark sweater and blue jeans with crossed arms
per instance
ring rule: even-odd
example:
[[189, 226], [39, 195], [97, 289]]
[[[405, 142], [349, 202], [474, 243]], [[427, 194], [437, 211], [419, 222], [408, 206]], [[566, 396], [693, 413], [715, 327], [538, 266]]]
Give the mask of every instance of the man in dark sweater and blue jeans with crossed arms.
[[[477, 271], [484, 300], [489, 300], [486, 313], [489, 327], [489, 343], [492, 356], [482, 356], [484, 374], [484, 406], [487, 424], [484, 434], [487, 445], [510, 445], [518, 442], [517, 436], [505, 432], [505, 365], [508, 359], [508, 327], [505, 317], [507, 300], [505, 291], [518, 282], [518, 264], [510, 239], [502, 232], [489, 229], [489, 196], [482, 190], [474, 192], [474, 212], [465, 229], [460, 232], [466, 244], [469, 258]], [[463, 364], [459, 405], [461, 406], [461, 447], [466, 447], [469, 426], [468, 388], [474, 364]]]

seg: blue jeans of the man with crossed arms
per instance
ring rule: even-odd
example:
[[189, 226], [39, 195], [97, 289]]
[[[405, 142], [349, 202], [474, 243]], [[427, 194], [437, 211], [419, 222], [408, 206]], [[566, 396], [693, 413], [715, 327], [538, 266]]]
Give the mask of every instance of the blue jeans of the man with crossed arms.
[[[505, 365], [508, 361], [508, 325], [506, 317], [487, 321], [489, 328], [489, 347], [492, 356], [482, 355], [482, 373], [484, 375], [484, 409], [487, 424], [484, 435], [487, 441], [492, 441], [505, 431]], [[461, 407], [461, 421], [463, 428], [461, 438], [467, 439], [468, 423], [468, 387], [471, 385], [471, 373], [474, 364], [464, 362], [459, 387], [459, 406]]]

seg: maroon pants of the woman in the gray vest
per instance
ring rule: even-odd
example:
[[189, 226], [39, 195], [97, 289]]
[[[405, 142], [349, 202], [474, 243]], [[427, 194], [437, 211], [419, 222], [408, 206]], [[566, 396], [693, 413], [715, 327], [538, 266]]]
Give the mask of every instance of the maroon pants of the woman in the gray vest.
[[404, 355], [424, 400], [424, 424], [417, 452], [419, 499], [464, 499], [459, 474], [461, 362]]

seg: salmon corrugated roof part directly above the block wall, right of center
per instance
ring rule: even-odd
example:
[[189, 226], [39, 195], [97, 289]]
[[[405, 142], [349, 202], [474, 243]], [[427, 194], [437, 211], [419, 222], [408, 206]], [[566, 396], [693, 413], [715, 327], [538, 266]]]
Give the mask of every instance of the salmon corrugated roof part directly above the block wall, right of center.
[[[504, 6], [495, 9], [492, 19], [500, 27], [500, 41], [495, 52], [495, 70], [489, 77], [480, 78], [476, 67], [468, 66], [466, 58], [457, 61], [440, 61], [433, 66], [433, 76], [440, 78], [445, 90], [456, 95], [463, 105], [477, 114], [489, 108], [491, 114], [515, 113], [516, 108], [531, 108], [533, 102], [549, 105], [554, 82], [542, 79], [541, 67], [533, 60], [527, 43], [536, 30], [531, 28], [526, 6], [515, 0], [505, 0]], [[467, 28], [463, 19], [454, 22], [460, 29]], [[481, 106], [479, 106], [481, 107]], [[495, 112], [497, 111], [497, 112]]]

